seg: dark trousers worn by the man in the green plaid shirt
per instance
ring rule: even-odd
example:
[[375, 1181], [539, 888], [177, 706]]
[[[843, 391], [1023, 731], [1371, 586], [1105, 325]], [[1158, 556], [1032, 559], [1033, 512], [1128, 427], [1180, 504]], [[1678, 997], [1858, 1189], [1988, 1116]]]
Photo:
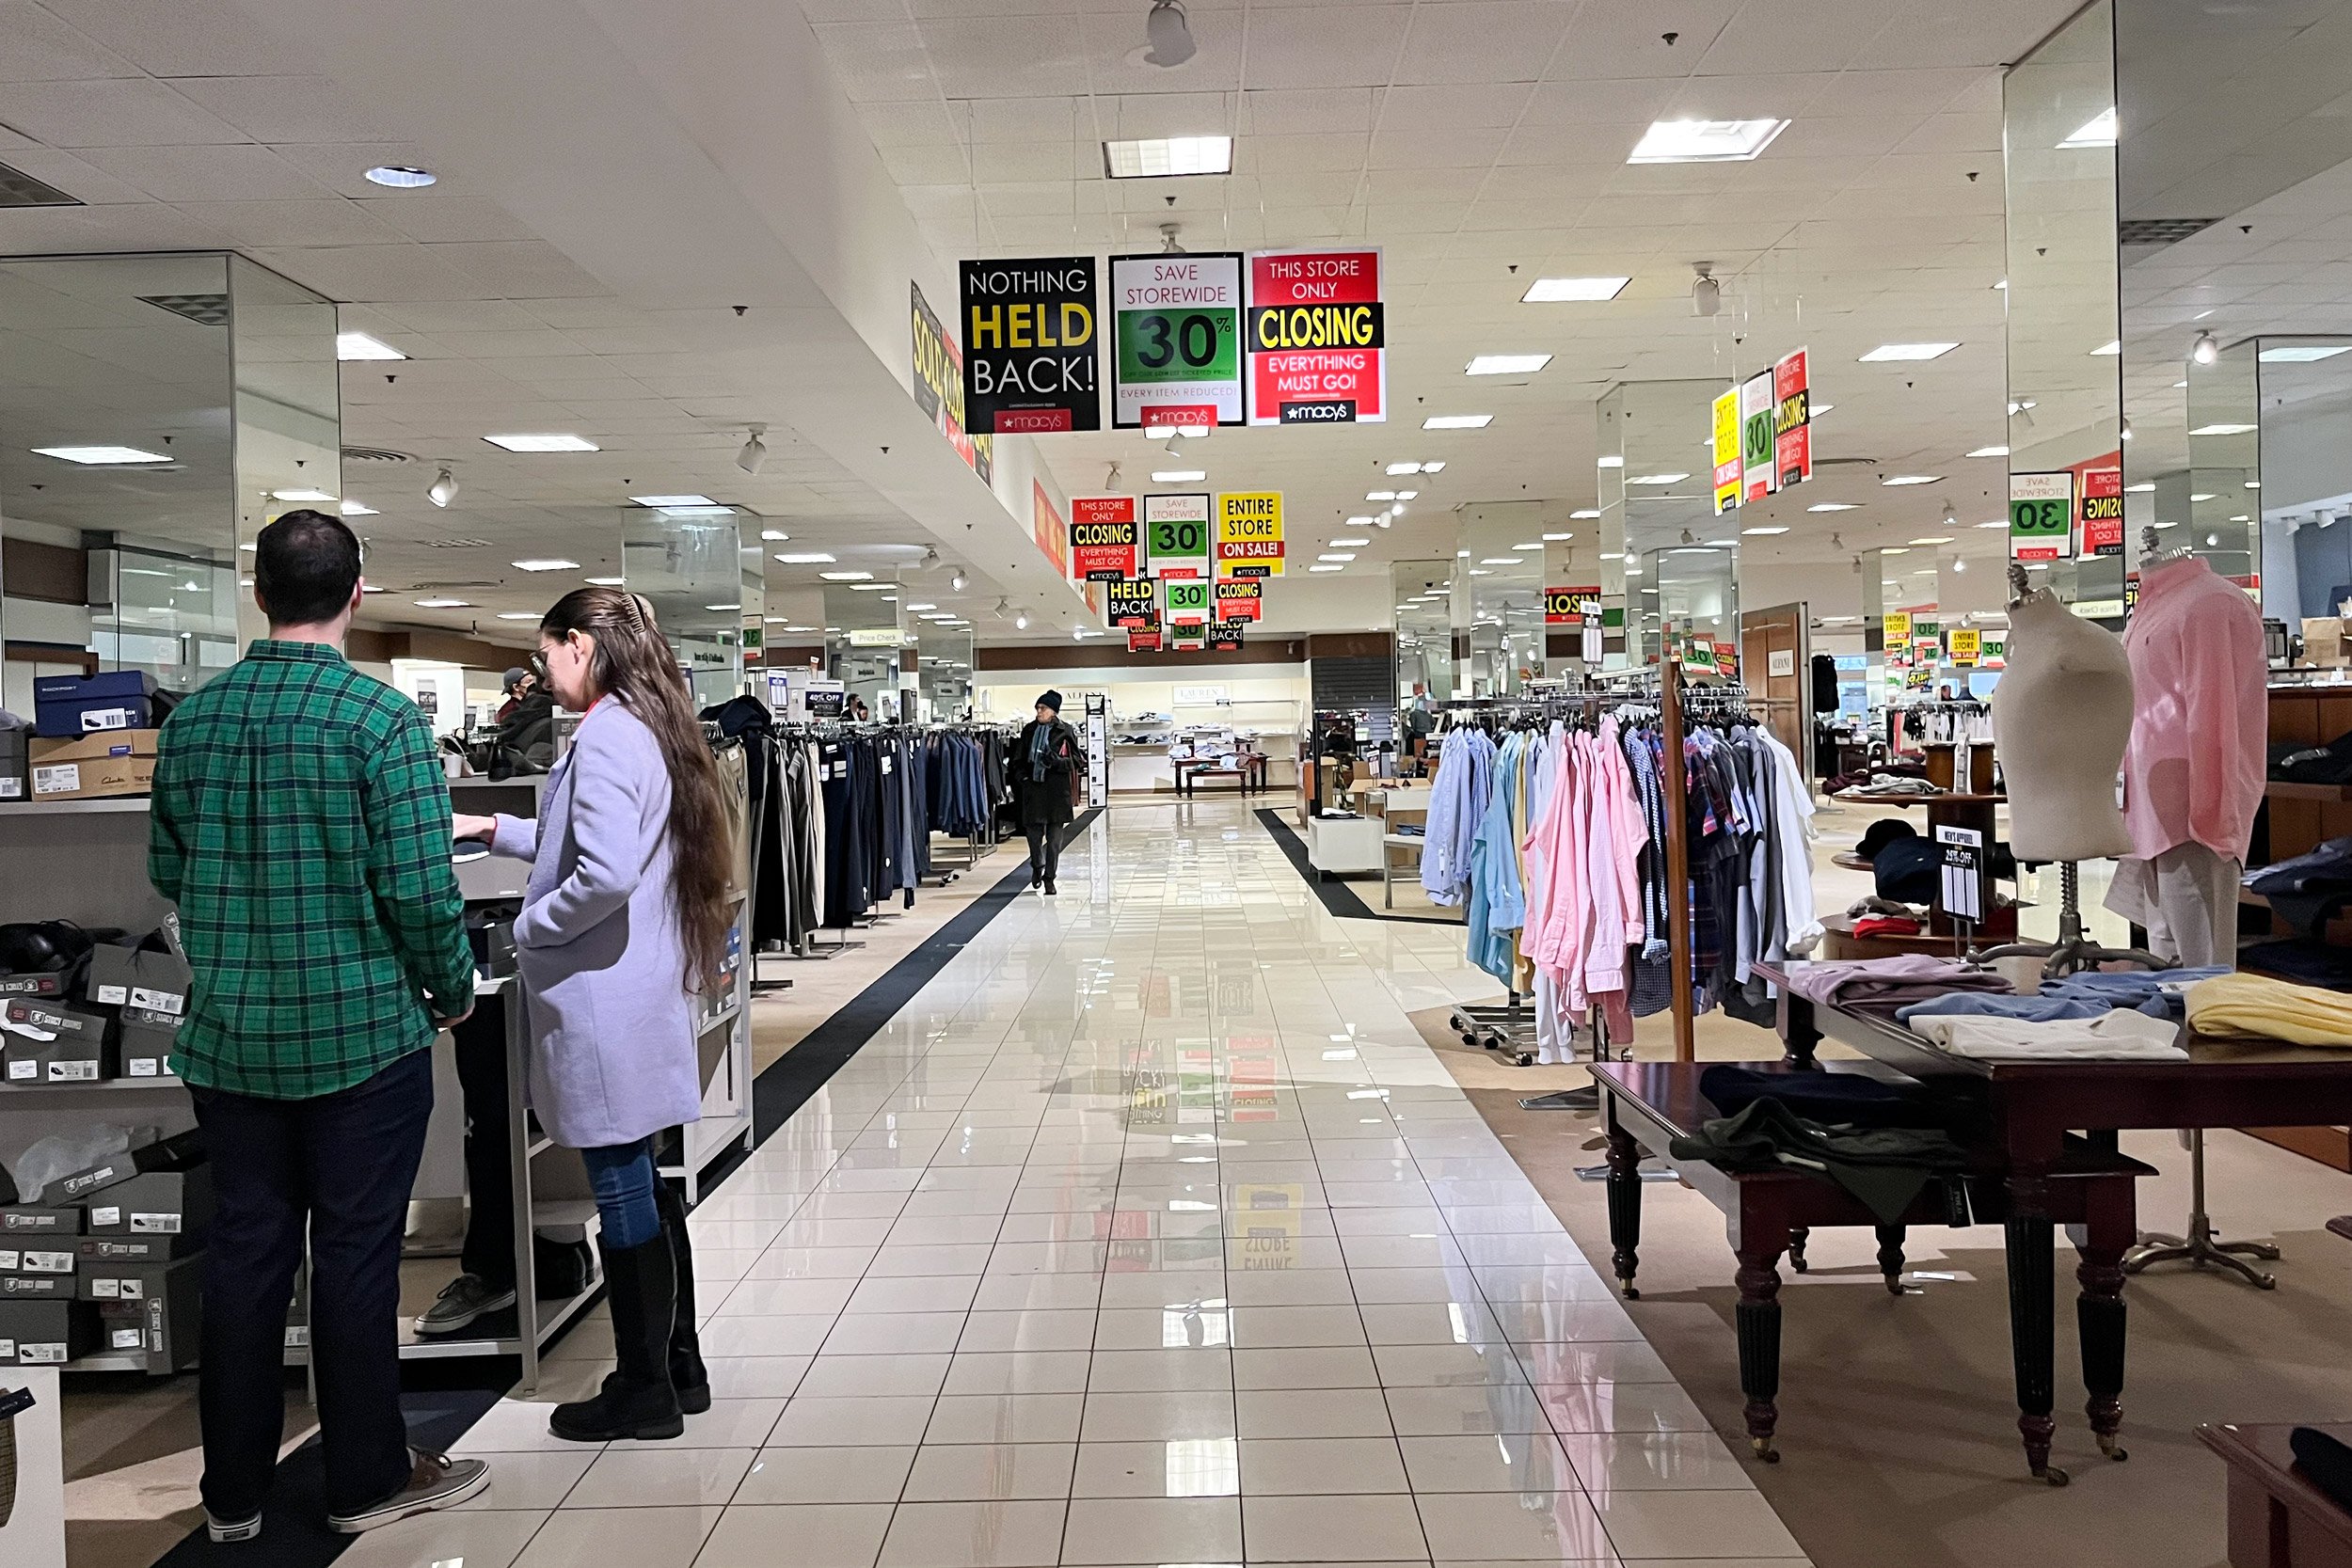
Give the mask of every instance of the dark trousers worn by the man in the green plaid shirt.
[[285, 1333], [310, 1237], [310, 1356], [327, 1512], [409, 1479], [400, 1415], [400, 1234], [433, 1117], [433, 1053], [315, 1100], [191, 1088], [212, 1150], [205, 1251], [205, 1507], [252, 1519], [285, 1436]]

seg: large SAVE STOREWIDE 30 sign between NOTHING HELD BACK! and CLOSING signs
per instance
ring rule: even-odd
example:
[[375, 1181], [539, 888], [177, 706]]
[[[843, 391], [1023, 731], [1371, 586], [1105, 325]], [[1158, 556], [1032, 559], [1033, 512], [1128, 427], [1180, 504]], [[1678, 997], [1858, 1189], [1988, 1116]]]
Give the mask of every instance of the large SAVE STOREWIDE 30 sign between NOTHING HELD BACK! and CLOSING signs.
[[1110, 259], [1110, 423], [1244, 423], [1240, 254]]

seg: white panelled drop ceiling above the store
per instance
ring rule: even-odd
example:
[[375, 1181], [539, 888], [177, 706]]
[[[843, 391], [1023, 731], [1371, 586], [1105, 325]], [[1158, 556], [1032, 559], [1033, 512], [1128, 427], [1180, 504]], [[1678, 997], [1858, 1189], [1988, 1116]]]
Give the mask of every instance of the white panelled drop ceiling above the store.
[[[508, 559], [593, 569], [593, 555], [616, 552], [593, 545], [616, 538], [626, 494], [701, 491], [844, 564], [889, 569], [936, 545], [976, 583], [955, 597], [927, 581], [920, 597], [1009, 637], [1009, 621], [985, 616], [1002, 592], [1040, 628], [1068, 632], [1082, 609], [1044, 590], [1035, 550], [1018, 559], [1002, 543], [1018, 545], [1018, 529], [969, 480], [889, 477], [910, 423], [936, 440], [903, 409], [863, 402], [875, 355], [896, 355], [903, 376], [903, 324], [844, 329], [847, 284], [818, 292], [767, 259], [870, 221], [849, 167], [863, 143], [936, 275], [967, 254], [1157, 249], [1162, 223], [1190, 249], [1374, 242], [1388, 266], [1392, 423], [1221, 430], [1188, 451], [1211, 487], [1284, 489], [1301, 562], [1371, 510], [1367, 489], [1395, 484], [1388, 463], [1444, 458], [1345, 571], [1270, 595], [1282, 630], [1371, 625], [1385, 623], [1390, 557], [1451, 555], [1454, 508], [1592, 505], [1592, 400], [1611, 383], [1731, 378], [1799, 346], [1813, 353], [1816, 402], [1835, 404], [1816, 451], [1851, 461], [1745, 512], [1790, 527], [1750, 538], [1752, 557], [1828, 564], [1832, 527], [1851, 552], [1929, 531], [1945, 501], [1966, 522], [1997, 508], [2002, 463], [1962, 454], [2004, 440], [1999, 68], [2070, 9], [1195, 0], [1200, 54], [1160, 71], [1131, 59], [1143, 0], [804, 0], [807, 26], [753, 0], [694, 0], [682, 14], [619, 0], [386, 0], [365, 14], [332, 0], [5, 0], [0, 162], [85, 205], [0, 212], [0, 254], [240, 249], [341, 301], [346, 329], [409, 353], [343, 371], [346, 444], [416, 458], [353, 465], [346, 491], [381, 510], [365, 524], [395, 585], [499, 583], [466, 595], [473, 611], [407, 609], [407, 621], [496, 625], [494, 611], [536, 609], [546, 583]], [[802, 56], [837, 82], [858, 139], [823, 202], [783, 188], [804, 174], [804, 148], [771, 122], [779, 101], [809, 96], [793, 75], [811, 68]], [[1651, 120], [1684, 115], [1792, 125], [1752, 162], [1625, 165]], [[1235, 136], [1230, 176], [1103, 179], [1108, 136], [1202, 132]], [[567, 160], [572, 146], [602, 162]], [[381, 162], [445, 179], [388, 193], [362, 179]], [[1724, 282], [1712, 320], [1691, 313], [1698, 261]], [[903, 310], [896, 273], [856, 287]], [[1606, 273], [1632, 275], [1616, 301], [1519, 303], [1534, 277]], [[753, 313], [739, 322], [741, 301]], [[931, 303], [953, 315], [953, 301]], [[1959, 348], [1858, 364], [1877, 343], [1922, 339]], [[1552, 362], [1524, 378], [1463, 376], [1482, 353]], [[816, 404], [830, 386], [849, 390], [828, 411]], [[1461, 411], [1496, 418], [1418, 428]], [[734, 468], [753, 418], [771, 425], [760, 477]], [[480, 440], [492, 430], [569, 430], [602, 451], [501, 454]], [[1703, 437], [1691, 430], [1693, 458]], [[898, 458], [875, 456], [894, 444]], [[1110, 461], [1127, 487], [1164, 465], [1138, 435], [1040, 449], [1077, 494], [1098, 489]], [[442, 461], [463, 482], [449, 512], [423, 501]], [[1947, 482], [1875, 482], [1893, 473]], [[1823, 501], [1860, 510], [1804, 510]], [[1569, 527], [1590, 543], [1592, 524]], [[426, 548], [447, 536], [494, 548]], [[1997, 555], [1994, 534], [1955, 548], [1978, 541]], [[814, 588], [811, 569], [774, 574]], [[814, 595], [804, 604], [793, 614]]]

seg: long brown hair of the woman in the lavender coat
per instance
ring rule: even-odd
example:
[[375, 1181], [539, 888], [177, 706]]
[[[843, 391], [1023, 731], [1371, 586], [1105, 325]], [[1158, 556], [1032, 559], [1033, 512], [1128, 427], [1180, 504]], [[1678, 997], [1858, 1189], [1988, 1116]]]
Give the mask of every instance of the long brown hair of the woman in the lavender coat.
[[588, 679], [616, 693], [654, 731], [670, 769], [670, 903], [687, 950], [687, 990], [699, 992], [727, 957], [727, 799], [694, 717], [670, 639], [654, 607], [621, 588], [574, 588], [539, 621], [541, 637], [595, 637]]

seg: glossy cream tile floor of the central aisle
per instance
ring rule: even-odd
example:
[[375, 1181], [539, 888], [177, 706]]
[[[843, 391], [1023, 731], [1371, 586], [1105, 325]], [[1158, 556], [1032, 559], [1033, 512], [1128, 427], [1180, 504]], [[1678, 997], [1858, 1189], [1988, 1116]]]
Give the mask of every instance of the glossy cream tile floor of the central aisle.
[[[720, 1394], [463, 1443], [350, 1568], [1802, 1563], [1338, 922], [1237, 806], [1120, 806], [694, 1215]], [[821, 976], [811, 978], [821, 983]]]

